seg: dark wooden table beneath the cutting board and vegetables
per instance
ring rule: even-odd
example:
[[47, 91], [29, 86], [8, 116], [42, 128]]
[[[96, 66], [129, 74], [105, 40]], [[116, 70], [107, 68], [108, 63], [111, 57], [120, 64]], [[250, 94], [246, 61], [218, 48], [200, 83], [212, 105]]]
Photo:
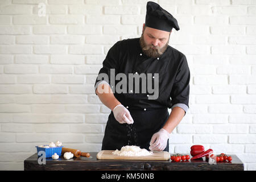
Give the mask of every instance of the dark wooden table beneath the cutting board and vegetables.
[[42, 164], [42, 157], [37, 153], [31, 155], [24, 160], [24, 170], [77, 170], [77, 171], [97, 171], [97, 170], [156, 170], [156, 171], [243, 171], [243, 163], [236, 155], [232, 156], [232, 162], [218, 162], [210, 165], [208, 160], [204, 158], [180, 162], [172, 162], [170, 159], [166, 161], [160, 160], [98, 160], [96, 158], [97, 152], [90, 152], [90, 158], [79, 157], [66, 160], [63, 155], [59, 159], [53, 160], [46, 158], [45, 163]]

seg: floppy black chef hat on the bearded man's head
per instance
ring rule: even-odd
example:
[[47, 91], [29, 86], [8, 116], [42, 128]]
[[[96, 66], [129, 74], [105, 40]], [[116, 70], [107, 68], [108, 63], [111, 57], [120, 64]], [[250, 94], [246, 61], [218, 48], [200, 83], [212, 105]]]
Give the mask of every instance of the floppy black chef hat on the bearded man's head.
[[168, 13], [166, 10], [162, 9], [157, 3], [148, 1], [147, 2], [147, 14], [145, 24], [147, 27], [155, 28], [158, 30], [163, 30], [170, 32], [172, 28], [176, 31], [180, 30], [177, 20]]

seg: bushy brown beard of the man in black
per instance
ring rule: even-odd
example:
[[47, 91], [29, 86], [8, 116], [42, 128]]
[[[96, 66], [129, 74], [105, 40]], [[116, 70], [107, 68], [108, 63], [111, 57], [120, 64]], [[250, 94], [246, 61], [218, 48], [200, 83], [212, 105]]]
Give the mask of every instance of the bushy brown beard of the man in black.
[[[143, 38], [143, 34], [141, 35], [141, 38], [139, 39], [139, 44], [141, 44], [141, 48], [143, 53], [148, 56], [148, 57], [159, 57], [160, 55], [162, 55], [164, 53], [164, 51], [166, 51], [167, 47], [168, 47], [168, 42], [166, 43], [166, 45], [164, 45], [164, 47], [159, 48], [158, 46], [154, 46], [154, 45], [147, 45], [146, 42], [144, 41]], [[153, 49], [156, 48], [156, 49]]]

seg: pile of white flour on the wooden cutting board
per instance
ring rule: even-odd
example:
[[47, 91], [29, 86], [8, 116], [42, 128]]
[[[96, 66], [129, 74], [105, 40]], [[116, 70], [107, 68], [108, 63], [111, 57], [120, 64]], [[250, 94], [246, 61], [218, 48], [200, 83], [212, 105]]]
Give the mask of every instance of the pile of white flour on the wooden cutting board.
[[141, 149], [138, 146], [125, 146], [121, 150], [115, 150], [112, 154], [121, 156], [147, 156], [152, 155], [153, 152], [147, 151], [144, 148]]

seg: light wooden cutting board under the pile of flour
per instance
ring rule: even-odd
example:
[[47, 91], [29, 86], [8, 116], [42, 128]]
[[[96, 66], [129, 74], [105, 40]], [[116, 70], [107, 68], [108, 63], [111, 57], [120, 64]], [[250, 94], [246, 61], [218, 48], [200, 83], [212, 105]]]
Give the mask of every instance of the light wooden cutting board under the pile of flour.
[[170, 153], [166, 151], [154, 151], [153, 155], [148, 156], [119, 156], [112, 154], [114, 150], [102, 150], [98, 152], [97, 159], [113, 160], [169, 160]]

